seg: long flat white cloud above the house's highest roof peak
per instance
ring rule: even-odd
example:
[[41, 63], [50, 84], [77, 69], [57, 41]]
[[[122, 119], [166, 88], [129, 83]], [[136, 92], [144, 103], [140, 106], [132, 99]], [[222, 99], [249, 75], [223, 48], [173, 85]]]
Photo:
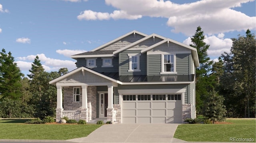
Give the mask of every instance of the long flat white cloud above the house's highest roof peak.
[[77, 16], [79, 20], [109, 20], [110, 18], [116, 19], [128, 19], [135, 20], [138, 18], [142, 18], [141, 15], [129, 15], [127, 12], [123, 10], [115, 10], [113, 13], [109, 14], [107, 12], [94, 12], [92, 10], [84, 10], [81, 12], [79, 16]]

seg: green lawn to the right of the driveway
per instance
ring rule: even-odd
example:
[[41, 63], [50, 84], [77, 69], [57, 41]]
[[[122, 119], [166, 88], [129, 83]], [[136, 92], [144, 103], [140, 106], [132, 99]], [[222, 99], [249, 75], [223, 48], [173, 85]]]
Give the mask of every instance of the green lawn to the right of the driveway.
[[182, 124], [174, 137], [184, 141], [229, 142], [230, 138], [256, 141], [256, 119], [227, 119], [231, 124]]

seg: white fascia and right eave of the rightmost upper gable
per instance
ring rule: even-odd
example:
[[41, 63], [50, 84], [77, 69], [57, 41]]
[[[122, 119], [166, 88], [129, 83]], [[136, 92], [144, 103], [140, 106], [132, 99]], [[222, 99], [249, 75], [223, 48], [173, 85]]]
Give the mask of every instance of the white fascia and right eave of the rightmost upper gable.
[[148, 52], [149, 50], [154, 49], [154, 48], [156, 48], [157, 46], [159, 46], [159, 45], [161, 45], [161, 44], [164, 44], [164, 43], [166, 43], [166, 42], [167, 42], [167, 43], [172, 42], [172, 43], [174, 43], [174, 44], [178, 44], [178, 45], [180, 45], [180, 46], [183, 46], [183, 47], [185, 47], [185, 48], [190, 49], [190, 50], [191, 50], [191, 53], [192, 53], [192, 58], [194, 59], [194, 64], [195, 64], [195, 66], [196, 66], [196, 67], [199, 67], [199, 59], [198, 59], [198, 54], [197, 54], [196, 48], [191, 47], [191, 46], [188, 46], [188, 45], [183, 44], [183, 43], [180, 43], [180, 42], [178, 42], [178, 41], [172, 40], [172, 39], [170, 39], [170, 38], [167, 38], [167, 39], [165, 39], [165, 40], [163, 40], [163, 41], [161, 41], [161, 42], [158, 42], [158, 43], [156, 43], [156, 44], [154, 44], [154, 45], [152, 45], [152, 46], [150, 46], [150, 47], [148, 47], [148, 48], [145, 48], [145, 49], [141, 50], [141, 53], [143, 54], [143, 53], [145, 53], [145, 52]]

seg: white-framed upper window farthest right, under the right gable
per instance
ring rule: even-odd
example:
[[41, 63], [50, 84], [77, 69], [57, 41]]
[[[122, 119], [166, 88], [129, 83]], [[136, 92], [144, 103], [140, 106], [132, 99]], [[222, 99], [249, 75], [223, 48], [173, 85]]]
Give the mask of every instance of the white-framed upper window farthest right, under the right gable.
[[162, 72], [160, 74], [176, 74], [175, 62], [175, 55], [162, 55]]

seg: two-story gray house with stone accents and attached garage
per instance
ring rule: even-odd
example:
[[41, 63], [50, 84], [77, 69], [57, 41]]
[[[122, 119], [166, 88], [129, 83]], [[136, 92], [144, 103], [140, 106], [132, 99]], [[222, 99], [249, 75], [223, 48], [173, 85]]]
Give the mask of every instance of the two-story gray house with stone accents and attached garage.
[[195, 48], [157, 34], [129, 32], [76, 54], [77, 69], [52, 81], [56, 121], [182, 123], [196, 117]]

